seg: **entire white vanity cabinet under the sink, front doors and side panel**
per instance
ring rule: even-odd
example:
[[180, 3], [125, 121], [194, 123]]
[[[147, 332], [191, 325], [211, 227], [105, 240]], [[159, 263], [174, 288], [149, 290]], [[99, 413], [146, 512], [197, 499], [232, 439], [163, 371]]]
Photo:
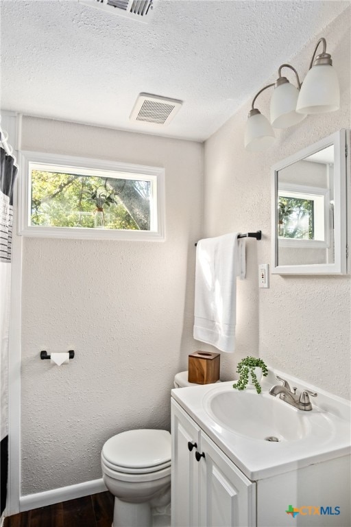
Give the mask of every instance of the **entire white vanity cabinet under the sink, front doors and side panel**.
[[252, 481], [174, 399], [171, 427], [172, 527], [351, 525], [348, 452]]

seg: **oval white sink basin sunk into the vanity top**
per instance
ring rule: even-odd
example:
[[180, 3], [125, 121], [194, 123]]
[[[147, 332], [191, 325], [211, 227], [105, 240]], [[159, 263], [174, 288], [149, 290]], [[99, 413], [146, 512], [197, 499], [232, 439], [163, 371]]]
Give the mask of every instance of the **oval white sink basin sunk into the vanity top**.
[[209, 393], [204, 410], [227, 430], [252, 439], [298, 441], [311, 433], [308, 412], [256, 390]]

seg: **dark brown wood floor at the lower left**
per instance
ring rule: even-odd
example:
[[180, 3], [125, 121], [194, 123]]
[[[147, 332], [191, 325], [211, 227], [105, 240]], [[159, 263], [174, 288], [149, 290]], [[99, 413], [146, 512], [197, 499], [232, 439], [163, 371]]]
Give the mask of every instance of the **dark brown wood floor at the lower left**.
[[114, 499], [101, 492], [5, 519], [3, 527], [111, 527]]

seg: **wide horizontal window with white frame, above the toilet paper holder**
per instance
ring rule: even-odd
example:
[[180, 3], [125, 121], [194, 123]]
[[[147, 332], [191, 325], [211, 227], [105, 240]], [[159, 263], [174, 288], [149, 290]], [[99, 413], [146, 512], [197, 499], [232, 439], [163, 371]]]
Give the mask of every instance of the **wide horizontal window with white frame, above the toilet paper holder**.
[[38, 152], [20, 161], [20, 234], [164, 239], [164, 169]]

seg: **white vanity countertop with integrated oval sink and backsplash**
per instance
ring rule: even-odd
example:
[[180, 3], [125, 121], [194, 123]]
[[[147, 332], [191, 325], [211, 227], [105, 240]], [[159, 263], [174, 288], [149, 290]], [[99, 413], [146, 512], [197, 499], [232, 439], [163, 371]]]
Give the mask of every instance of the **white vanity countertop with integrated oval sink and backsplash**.
[[[312, 410], [269, 394], [276, 375], [290, 386], [317, 392]], [[269, 371], [262, 393], [233, 382], [172, 390], [172, 397], [250, 480], [349, 456], [350, 401], [280, 371]]]

